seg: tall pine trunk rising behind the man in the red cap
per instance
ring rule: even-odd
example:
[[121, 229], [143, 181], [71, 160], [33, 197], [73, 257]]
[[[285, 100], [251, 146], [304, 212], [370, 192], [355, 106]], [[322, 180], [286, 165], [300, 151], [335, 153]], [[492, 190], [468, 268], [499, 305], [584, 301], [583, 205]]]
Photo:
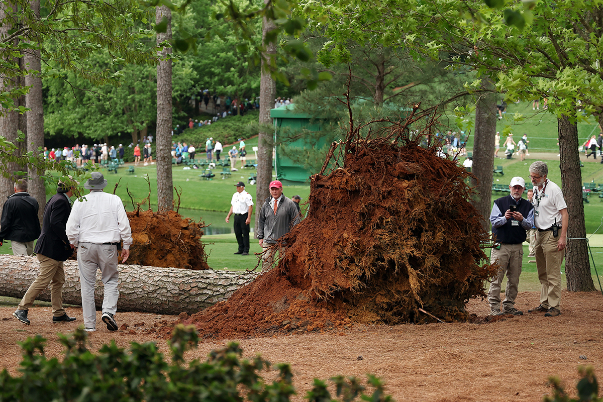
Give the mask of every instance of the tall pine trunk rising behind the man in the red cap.
[[[264, 1], [265, 3], [268, 0]], [[262, 26], [262, 39], [266, 34], [275, 28], [274, 22], [264, 17]], [[267, 63], [270, 58], [276, 54], [276, 43], [268, 43], [264, 58], [262, 59], [262, 72], [260, 75], [260, 115], [259, 115], [259, 135], [257, 136], [257, 183], [256, 183], [256, 209], [260, 209], [264, 200], [270, 196], [270, 181], [272, 181], [272, 152], [274, 148], [274, 128], [270, 109], [274, 107], [274, 98], [276, 98], [276, 83], [270, 72], [267, 71]], [[256, 213], [256, 226], [258, 225], [259, 214]]]

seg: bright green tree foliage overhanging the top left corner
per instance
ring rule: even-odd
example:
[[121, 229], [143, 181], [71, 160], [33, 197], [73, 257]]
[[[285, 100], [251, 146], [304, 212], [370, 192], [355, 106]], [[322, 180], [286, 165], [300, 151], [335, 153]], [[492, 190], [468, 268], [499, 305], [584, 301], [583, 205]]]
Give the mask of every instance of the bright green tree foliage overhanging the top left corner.
[[[131, 29], [146, 23], [148, 12], [134, 0], [80, 2], [59, 0], [42, 4], [40, 16], [30, 8], [28, 0], [2, 1], [4, 26], [16, 27], [2, 38], [0, 71], [3, 77], [24, 77], [27, 72], [13, 61], [27, 48], [40, 49], [42, 74], [62, 77], [66, 72], [102, 85], [121, 75], [113, 64], [154, 63], [152, 51], [132, 46], [146, 39], [144, 31]], [[110, 62], [105, 66], [87, 63], [99, 49], [106, 49]], [[148, 50], [148, 49], [147, 49]], [[0, 89], [0, 104], [11, 110], [13, 99], [27, 89], [16, 86]]]

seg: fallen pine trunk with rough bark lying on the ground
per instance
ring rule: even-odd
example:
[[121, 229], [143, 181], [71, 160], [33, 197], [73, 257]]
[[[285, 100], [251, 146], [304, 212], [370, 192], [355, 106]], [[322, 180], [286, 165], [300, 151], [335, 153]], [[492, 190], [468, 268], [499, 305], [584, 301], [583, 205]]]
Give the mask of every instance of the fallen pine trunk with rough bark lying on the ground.
[[[40, 264], [36, 257], [0, 255], [0, 296], [22, 298], [36, 279]], [[118, 311], [159, 314], [199, 312], [226, 300], [257, 274], [237, 271], [192, 271], [155, 266], [119, 265]], [[96, 308], [103, 304], [104, 286], [96, 275]], [[37, 300], [50, 300], [46, 289]], [[77, 261], [65, 262], [63, 303], [81, 306], [80, 273]]]

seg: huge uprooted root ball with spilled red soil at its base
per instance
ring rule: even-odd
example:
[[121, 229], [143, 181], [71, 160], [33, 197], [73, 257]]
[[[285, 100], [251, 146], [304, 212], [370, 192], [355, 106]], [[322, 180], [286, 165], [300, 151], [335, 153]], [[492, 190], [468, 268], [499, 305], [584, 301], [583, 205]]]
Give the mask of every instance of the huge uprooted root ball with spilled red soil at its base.
[[349, 145], [343, 168], [312, 177], [308, 217], [280, 239], [279, 265], [186, 321], [219, 338], [434, 322], [428, 313], [467, 321], [496, 267], [466, 177], [414, 142]]

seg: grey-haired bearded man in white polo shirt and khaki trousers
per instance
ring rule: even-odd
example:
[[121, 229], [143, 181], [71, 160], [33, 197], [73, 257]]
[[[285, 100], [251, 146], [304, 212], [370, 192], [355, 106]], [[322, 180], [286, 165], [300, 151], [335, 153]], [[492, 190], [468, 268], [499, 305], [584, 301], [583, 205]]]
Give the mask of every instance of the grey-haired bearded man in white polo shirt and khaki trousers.
[[529, 167], [534, 184], [532, 205], [535, 239], [536, 269], [540, 280], [540, 305], [529, 313], [546, 312], [546, 317], [561, 314], [561, 263], [567, 245], [567, 204], [557, 184], [546, 178], [549, 168], [537, 160]]

